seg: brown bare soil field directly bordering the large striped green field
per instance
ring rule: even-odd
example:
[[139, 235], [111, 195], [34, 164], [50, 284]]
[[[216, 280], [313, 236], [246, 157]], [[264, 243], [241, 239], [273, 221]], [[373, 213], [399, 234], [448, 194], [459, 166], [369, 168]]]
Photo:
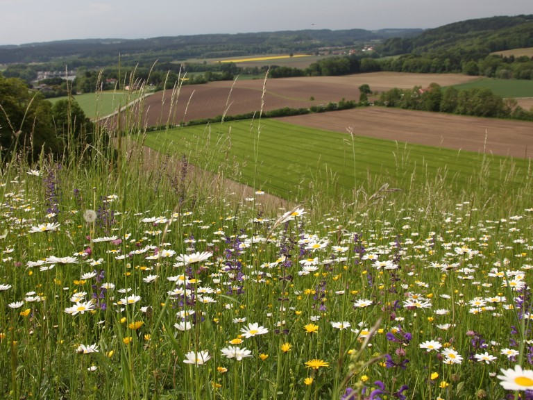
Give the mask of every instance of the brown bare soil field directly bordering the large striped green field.
[[533, 157], [533, 122], [366, 107], [279, 118], [289, 124], [398, 142]]

